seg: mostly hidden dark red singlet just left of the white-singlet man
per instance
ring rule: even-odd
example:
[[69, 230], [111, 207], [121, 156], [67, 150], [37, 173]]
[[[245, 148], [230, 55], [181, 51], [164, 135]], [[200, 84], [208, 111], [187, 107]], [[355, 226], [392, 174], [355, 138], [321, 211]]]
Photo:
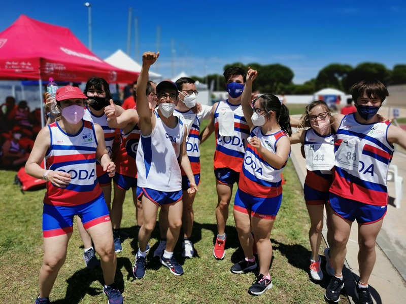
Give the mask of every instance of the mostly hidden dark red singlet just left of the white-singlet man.
[[141, 131], [136, 125], [130, 132], [124, 134], [121, 132], [121, 144], [114, 159], [116, 172], [129, 177], [137, 176], [137, 148], [140, 142]]

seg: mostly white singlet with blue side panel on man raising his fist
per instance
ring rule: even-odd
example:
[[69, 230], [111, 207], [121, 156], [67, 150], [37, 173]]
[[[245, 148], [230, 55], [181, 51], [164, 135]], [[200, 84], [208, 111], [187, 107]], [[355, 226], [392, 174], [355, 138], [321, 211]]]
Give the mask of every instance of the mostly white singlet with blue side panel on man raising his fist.
[[141, 134], [137, 151], [137, 186], [156, 191], [175, 192], [182, 189], [178, 163], [184, 125], [180, 119], [175, 128], [167, 127], [155, 112], [156, 123], [148, 136]]

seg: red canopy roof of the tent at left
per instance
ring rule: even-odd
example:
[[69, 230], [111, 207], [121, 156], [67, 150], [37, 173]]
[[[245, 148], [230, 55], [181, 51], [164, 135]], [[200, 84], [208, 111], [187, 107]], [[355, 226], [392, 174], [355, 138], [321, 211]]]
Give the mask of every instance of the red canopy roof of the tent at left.
[[21, 15], [0, 33], [0, 79], [132, 83], [138, 75], [101, 60], [66, 27]]

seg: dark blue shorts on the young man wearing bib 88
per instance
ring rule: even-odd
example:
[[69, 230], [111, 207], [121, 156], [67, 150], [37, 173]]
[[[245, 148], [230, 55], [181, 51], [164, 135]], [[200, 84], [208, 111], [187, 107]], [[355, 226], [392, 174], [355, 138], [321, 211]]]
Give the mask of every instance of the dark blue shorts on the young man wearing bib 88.
[[376, 206], [346, 199], [330, 193], [331, 209], [340, 217], [359, 224], [372, 224], [381, 220], [387, 211], [387, 206]]

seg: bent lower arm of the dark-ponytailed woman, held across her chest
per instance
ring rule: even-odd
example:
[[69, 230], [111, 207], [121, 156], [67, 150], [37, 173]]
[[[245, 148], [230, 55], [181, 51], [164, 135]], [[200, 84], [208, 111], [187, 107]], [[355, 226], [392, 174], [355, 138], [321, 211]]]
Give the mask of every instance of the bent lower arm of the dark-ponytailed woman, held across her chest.
[[257, 149], [264, 160], [274, 168], [281, 169], [289, 157], [290, 141], [289, 137], [282, 136], [276, 144], [276, 154], [261, 145], [258, 137], [254, 136], [250, 144]]

